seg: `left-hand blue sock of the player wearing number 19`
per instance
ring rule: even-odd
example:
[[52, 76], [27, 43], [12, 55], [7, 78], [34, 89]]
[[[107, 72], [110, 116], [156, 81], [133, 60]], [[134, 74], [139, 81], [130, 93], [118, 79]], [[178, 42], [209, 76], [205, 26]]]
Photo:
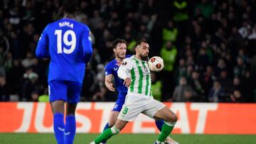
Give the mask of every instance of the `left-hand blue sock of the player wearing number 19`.
[[64, 119], [63, 113], [53, 115], [53, 129], [58, 144], [64, 144]]

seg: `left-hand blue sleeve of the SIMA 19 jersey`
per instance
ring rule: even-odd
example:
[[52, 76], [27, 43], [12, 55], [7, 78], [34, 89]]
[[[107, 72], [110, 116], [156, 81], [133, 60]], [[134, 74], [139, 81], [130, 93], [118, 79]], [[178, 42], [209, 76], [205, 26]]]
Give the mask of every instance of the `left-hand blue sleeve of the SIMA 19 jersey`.
[[36, 57], [38, 58], [48, 58], [50, 57], [49, 52], [49, 40], [48, 40], [48, 26], [43, 30], [41, 37], [38, 40], [38, 45], [36, 46]]

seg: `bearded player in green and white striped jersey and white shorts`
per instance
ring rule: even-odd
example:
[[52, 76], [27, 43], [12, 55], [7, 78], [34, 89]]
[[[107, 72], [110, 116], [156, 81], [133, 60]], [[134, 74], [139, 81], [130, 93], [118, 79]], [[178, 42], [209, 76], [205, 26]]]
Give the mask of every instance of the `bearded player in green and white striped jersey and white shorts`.
[[[156, 144], [164, 144], [164, 140], [176, 124], [176, 114], [160, 101], [156, 101], [151, 94], [151, 77], [148, 66], [149, 43], [146, 41], [137, 42], [135, 51], [135, 55], [124, 59], [117, 72], [118, 77], [124, 79], [124, 85], [128, 87], [127, 96], [117, 121], [112, 128], [103, 131], [91, 144], [101, 143], [102, 140], [116, 135], [129, 121], [134, 121], [139, 113], [144, 113], [150, 118], [164, 120]], [[171, 143], [178, 144], [174, 140]]]

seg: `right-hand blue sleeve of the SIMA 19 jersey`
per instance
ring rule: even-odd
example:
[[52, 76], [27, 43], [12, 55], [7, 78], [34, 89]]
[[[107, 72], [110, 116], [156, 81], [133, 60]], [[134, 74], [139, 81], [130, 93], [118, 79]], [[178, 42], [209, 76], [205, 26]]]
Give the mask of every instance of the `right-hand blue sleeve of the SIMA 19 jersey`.
[[82, 35], [82, 48], [85, 57], [85, 63], [90, 62], [92, 57], [92, 40], [90, 38], [90, 29], [87, 28], [85, 33]]

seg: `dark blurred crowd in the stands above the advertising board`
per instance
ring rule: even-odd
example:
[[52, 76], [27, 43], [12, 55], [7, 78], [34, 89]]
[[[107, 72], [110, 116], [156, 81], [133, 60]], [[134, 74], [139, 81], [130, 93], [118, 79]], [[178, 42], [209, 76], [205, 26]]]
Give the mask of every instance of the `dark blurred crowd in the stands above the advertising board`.
[[[63, 17], [61, 0], [0, 0], [0, 101], [43, 101], [47, 60], [35, 49], [43, 28]], [[93, 57], [81, 101], [114, 101], [104, 67], [110, 42], [147, 40], [165, 67], [152, 74], [161, 101], [256, 102], [256, 0], [79, 1], [76, 17], [92, 31]]]

